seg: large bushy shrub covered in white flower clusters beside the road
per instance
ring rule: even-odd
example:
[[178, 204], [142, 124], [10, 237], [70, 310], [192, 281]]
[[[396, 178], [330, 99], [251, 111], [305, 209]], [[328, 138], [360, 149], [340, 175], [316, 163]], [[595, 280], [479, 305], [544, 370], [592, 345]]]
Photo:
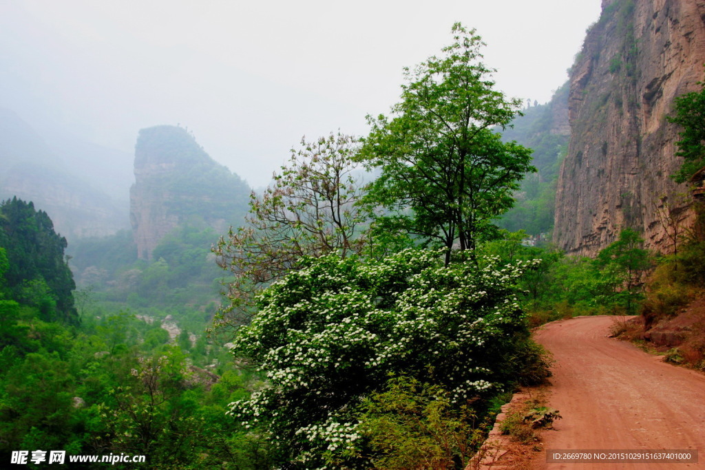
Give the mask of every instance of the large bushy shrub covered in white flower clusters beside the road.
[[360, 403], [391, 373], [440, 385], [457, 407], [510, 381], [513, 344], [526, 331], [513, 286], [531, 262], [441, 258], [411, 249], [382, 262], [324, 256], [259, 295], [233, 353], [267, 385], [229, 413], [266, 429], [282, 468], [363, 468]]

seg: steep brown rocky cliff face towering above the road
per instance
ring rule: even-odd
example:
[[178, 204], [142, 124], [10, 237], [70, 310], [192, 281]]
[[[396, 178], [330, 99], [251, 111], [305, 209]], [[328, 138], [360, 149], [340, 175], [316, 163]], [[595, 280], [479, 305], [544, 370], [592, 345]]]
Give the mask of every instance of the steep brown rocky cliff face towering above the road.
[[[592, 255], [622, 228], [666, 252], [670, 215], [687, 223], [686, 185], [669, 178], [673, 99], [704, 78], [705, 0], [603, 0], [570, 74], [571, 140], [556, 191], [554, 240]], [[669, 214], [670, 213], [670, 214]]]

